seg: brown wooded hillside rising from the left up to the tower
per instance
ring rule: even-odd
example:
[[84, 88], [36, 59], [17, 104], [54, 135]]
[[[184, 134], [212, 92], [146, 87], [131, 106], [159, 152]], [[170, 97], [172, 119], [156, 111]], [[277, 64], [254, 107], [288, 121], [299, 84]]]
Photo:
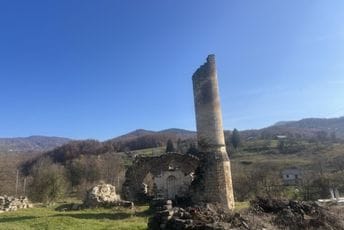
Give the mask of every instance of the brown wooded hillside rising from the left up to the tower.
[[195, 132], [183, 129], [167, 129], [162, 131], [135, 130], [128, 134], [100, 142], [97, 140], [70, 141], [55, 149], [46, 151], [43, 155], [26, 162], [23, 167], [27, 171], [39, 159], [49, 156], [54, 162], [65, 163], [79, 158], [81, 155], [94, 156], [113, 152], [129, 152], [140, 149], [156, 148], [166, 145], [170, 139], [181, 142], [184, 148], [195, 142]]

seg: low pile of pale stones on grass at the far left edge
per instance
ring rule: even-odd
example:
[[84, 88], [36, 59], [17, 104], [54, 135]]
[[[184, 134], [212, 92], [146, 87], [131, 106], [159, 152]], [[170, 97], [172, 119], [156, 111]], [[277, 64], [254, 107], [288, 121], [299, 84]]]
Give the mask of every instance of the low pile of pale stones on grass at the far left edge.
[[21, 196], [15, 198], [13, 196], [0, 196], [0, 213], [17, 211], [22, 208], [31, 208], [32, 204], [29, 202], [27, 197]]

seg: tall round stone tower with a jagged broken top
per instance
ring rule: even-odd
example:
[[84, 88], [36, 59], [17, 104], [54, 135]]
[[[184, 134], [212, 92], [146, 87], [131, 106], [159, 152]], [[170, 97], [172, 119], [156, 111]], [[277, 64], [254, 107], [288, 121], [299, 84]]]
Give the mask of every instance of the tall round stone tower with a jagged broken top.
[[209, 55], [192, 76], [198, 148], [202, 163], [194, 200], [234, 208], [230, 162], [222, 127], [215, 55]]

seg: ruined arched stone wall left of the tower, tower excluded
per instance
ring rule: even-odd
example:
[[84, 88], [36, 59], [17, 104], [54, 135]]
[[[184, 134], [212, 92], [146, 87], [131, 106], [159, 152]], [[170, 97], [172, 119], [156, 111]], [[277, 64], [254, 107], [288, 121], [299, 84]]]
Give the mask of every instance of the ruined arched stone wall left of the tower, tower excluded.
[[[124, 198], [138, 201], [149, 196], [164, 199], [188, 196], [193, 172], [198, 165], [199, 159], [188, 154], [137, 157], [126, 172], [122, 187]], [[147, 177], [150, 177], [151, 184], [144, 184]]]

